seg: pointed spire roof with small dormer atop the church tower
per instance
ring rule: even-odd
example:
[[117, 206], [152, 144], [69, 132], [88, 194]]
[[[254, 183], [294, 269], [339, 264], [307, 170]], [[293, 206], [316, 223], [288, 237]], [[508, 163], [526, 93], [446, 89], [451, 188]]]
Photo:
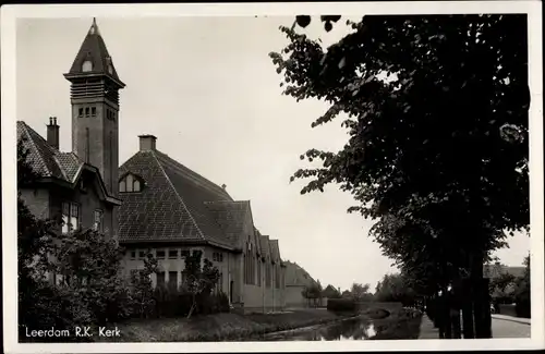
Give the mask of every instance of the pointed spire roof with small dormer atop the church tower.
[[[90, 65], [84, 65], [85, 62], [90, 62]], [[80, 47], [70, 72], [65, 74], [66, 78], [80, 75], [106, 75], [124, 86], [118, 76], [116, 66], [113, 66], [95, 19], [93, 19], [93, 24]]]

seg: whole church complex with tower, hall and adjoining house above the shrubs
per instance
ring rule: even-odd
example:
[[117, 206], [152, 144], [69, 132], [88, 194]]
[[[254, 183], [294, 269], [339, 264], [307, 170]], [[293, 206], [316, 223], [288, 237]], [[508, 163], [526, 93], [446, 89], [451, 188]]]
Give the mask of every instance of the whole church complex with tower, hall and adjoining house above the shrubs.
[[17, 139], [40, 179], [21, 186], [39, 218], [62, 217], [62, 232], [94, 228], [125, 247], [125, 276], [152, 253], [154, 285], [181, 286], [184, 257], [199, 252], [220, 271], [217, 290], [244, 312], [284, 307], [284, 265], [277, 240], [254, 225], [251, 203], [235, 200], [141, 135], [140, 150], [119, 166], [119, 78], [96, 21], [70, 71], [72, 151], [59, 150], [60, 126], [51, 118], [47, 138], [17, 122]]

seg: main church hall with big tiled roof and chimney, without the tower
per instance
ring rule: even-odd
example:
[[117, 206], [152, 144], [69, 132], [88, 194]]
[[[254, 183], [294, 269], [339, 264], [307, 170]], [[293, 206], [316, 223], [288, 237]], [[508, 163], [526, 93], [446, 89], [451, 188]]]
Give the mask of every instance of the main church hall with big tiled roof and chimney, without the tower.
[[220, 271], [217, 289], [234, 307], [283, 308], [278, 241], [257, 231], [249, 200], [234, 200], [225, 187], [161, 152], [153, 135], [140, 136], [140, 150], [120, 168], [118, 190], [128, 274], [152, 253], [159, 263], [154, 284], [181, 286], [185, 256], [201, 252]]

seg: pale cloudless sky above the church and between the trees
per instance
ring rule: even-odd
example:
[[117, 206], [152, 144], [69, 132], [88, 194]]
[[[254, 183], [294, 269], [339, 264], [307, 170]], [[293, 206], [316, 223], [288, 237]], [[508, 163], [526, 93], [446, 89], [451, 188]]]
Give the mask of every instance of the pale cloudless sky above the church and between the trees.
[[[281, 76], [268, 53], [288, 39], [278, 29], [293, 17], [97, 19], [120, 78], [120, 162], [138, 150], [138, 135], [157, 136], [157, 149], [238, 200], [251, 200], [256, 227], [279, 240], [283, 259], [298, 263], [324, 286], [353, 282], [374, 289], [396, 272], [368, 236], [372, 220], [347, 213], [352, 197], [330, 185], [301, 195], [289, 183], [310, 148], [337, 151], [348, 141], [340, 120], [311, 123], [328, 108], [281, 95]], [[49, 117], [60, 125], [60, 149], [71, 149], [70, 83], [92, 19], [26, 19], [16, 30], [16, 118], [45, 136]], [[348, 33], [315, 21], [304, 30], [324, 46]], [[521, 266], [530, 237], [516, 234], [501, 263]]]

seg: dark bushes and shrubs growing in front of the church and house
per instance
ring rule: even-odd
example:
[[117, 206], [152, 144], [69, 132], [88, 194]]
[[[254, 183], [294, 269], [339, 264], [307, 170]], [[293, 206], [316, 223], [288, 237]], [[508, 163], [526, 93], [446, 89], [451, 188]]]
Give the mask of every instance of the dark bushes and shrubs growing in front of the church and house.
[[[37, 180], [26, 159], [27, 151], [20, 142], [20, 187], [32, 187]], [[157, 271], [157, 260], [150, 255], [144, 260], [144, 269], [128, 279], [121, 268], [124, 249], [114, 240], [93, 230], [63, 235], [59, 232], [61, 222], [36, 219], [20, 192], [19, 326], [23, 340], [27, 340], [25, 328], [62, 330], [130, 317], [229, 310], [227, 296], [213, 292], [218, 269], [207, 259], [202, 267], [201, 253], [185, 259], [187, 280], [181, 290], [154, 289], [150, 276]]]

